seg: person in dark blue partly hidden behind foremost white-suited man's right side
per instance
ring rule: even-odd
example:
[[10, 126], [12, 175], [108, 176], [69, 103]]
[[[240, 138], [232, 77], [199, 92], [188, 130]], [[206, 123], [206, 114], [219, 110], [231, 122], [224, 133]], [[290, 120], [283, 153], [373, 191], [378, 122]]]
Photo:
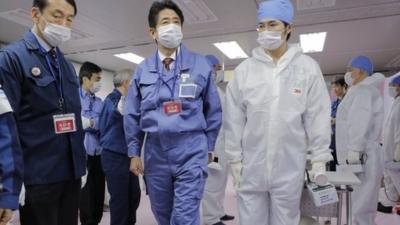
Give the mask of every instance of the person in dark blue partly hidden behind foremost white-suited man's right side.
[[340, 102], [344, 98], [347, 90], [347, 84], [344, 81], [344, 78], [336, 79], [332, 82], [332, 90], [336, 95], [336, 99], [332, 101], [331, 104], [331, 144], [329, 148], [332, 150], [333, 161], [329, 162], [329, 170], [336, 171], [336, 165], [338, 164], [337, 156], [336, 156], [336, 112], [339, 107]]

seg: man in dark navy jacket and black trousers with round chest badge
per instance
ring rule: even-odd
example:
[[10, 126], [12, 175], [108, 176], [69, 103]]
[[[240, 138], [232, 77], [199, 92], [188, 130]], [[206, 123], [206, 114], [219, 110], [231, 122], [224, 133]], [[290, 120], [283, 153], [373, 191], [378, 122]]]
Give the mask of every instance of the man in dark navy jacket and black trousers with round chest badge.
[[71, 37], [74, 0], [34, 0], [34, 26], [0, 50], [0, 83], [24, 160], [22, 225], [77, 224], [85, 150], [79, 83], [58, 48]]

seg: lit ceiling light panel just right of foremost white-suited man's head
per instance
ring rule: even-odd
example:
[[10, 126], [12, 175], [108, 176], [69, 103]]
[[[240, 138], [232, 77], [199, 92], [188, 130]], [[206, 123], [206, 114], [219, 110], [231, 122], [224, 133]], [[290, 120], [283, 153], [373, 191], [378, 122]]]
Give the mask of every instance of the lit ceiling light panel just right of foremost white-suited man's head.
[[300, 45], [304, 53], [322, 52], [325, 39], [326, 32], [300, 34]]

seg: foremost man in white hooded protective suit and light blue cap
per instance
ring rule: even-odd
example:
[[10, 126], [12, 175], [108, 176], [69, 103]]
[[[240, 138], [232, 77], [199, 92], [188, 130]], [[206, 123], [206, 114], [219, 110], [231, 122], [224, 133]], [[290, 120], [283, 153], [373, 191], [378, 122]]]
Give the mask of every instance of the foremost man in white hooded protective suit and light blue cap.
[[319, 65], [287, 43], [291, 1], [264, 1], [259, 47], [234, 72], [226, 92], [225, 149], [241, 225], [297, 225], [307, 152], [312, 172], [332, 160], [330, 99]]

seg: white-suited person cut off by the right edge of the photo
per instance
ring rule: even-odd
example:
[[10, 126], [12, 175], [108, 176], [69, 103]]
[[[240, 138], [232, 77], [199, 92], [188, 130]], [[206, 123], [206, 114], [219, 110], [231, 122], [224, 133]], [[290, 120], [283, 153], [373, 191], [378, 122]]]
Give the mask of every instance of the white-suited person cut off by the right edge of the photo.
[[[393, 105], [383, 130], [383, 153], [385, 164], [396, 162], [400, 165], [400, 75], [389, 82], [389, 94], [394, 98]], [[378, 210], [392, 213], [392, 206], [400, 202], [400, 172], [391, 169], [384, 171], [384, 197]]]

